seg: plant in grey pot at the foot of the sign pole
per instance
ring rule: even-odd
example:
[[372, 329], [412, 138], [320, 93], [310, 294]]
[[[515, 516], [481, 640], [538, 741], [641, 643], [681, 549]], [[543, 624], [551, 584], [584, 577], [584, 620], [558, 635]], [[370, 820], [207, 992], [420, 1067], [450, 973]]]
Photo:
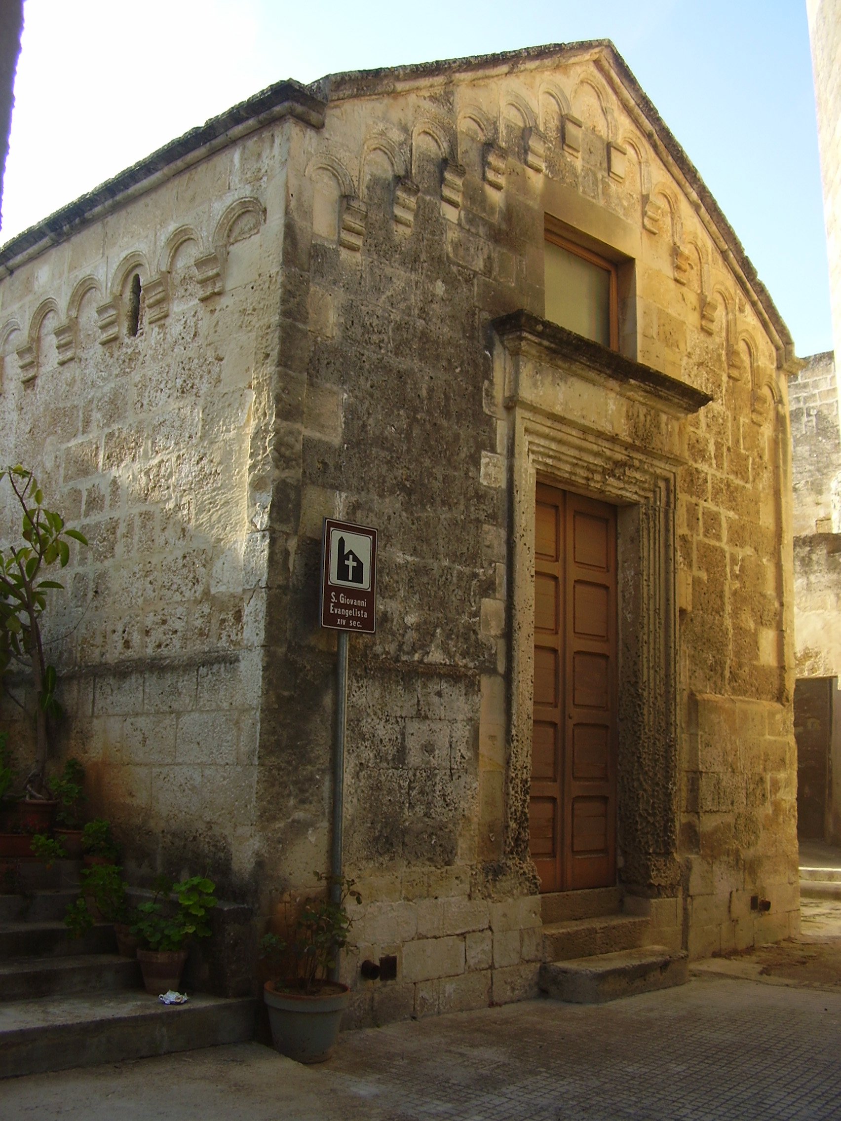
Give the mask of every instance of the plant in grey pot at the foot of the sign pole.
[[306, 898], [296, 908], [288, 905], [284, 933], [267, 934], [260, 943], [272, 974], [264, 985], [271, 1041], [298, 1063], [321, 1063], [335, 1046], [350, 990], [327, 980], [327, 973], [348, 942], [345, 901], [350, 896], [362, 901], [353, 880], [316, 877], [327, 888], [339, 888], [338, 901], [325, 895]]

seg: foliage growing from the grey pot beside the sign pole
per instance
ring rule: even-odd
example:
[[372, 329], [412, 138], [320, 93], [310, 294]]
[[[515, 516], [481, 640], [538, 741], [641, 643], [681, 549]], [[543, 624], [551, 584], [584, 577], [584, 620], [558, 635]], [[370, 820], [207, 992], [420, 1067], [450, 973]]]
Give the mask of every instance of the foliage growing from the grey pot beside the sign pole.
[[352, 921], [345, 904], [349, 898], [362, 902], [354, 891], [354, 880], [345, 877], [322, 876], [316, 878], [331, 887], [339, 886], [339, 901], [329, 895], [307, 897], [297, 904], [287, 905], [284, 934], [267, 934], [260, 941], [260, 956], [272, 974], [276, 988], [299, 989], [314, 992], [326, 980], [327, 971], [335, 964], [336, 951], [348, 944]]

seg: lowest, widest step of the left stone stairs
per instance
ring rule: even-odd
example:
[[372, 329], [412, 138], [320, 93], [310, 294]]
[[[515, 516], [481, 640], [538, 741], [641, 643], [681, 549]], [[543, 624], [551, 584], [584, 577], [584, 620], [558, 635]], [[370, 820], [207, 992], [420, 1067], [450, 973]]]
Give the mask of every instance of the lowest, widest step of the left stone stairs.
[[244, 1043], [257, 1001], [203, 993], [165, 1006], [145, 992], [0, 1004], [0, 1078]]

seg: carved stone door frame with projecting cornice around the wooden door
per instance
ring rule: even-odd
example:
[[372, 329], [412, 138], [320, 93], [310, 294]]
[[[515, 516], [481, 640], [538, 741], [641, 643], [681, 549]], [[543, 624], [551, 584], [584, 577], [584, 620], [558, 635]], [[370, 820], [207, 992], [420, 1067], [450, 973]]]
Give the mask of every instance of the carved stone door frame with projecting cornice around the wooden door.
[[[525, 312], [495, 321], [511, 473], [509, 858], [528, 861], [538, 476], [619, 507], [619, 849], [638, 893], [678, 886], [676, 470], [711, 398]], [[644, 434], [641, 437], [637, 433]]]

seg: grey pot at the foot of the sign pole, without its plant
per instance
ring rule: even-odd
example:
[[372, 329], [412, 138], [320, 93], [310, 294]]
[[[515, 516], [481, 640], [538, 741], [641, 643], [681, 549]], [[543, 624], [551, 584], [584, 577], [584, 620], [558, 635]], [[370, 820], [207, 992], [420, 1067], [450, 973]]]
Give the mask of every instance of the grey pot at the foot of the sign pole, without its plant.
[[267, 981], [262, 999], [269, 1011], [275, 1050], [298, 1063], [323, 1063], [330, 1058], [349, 998], [348, 985], [338, 982], [326, 981], [321, 992], [307, 995], [278, 992], [274, 982]]

